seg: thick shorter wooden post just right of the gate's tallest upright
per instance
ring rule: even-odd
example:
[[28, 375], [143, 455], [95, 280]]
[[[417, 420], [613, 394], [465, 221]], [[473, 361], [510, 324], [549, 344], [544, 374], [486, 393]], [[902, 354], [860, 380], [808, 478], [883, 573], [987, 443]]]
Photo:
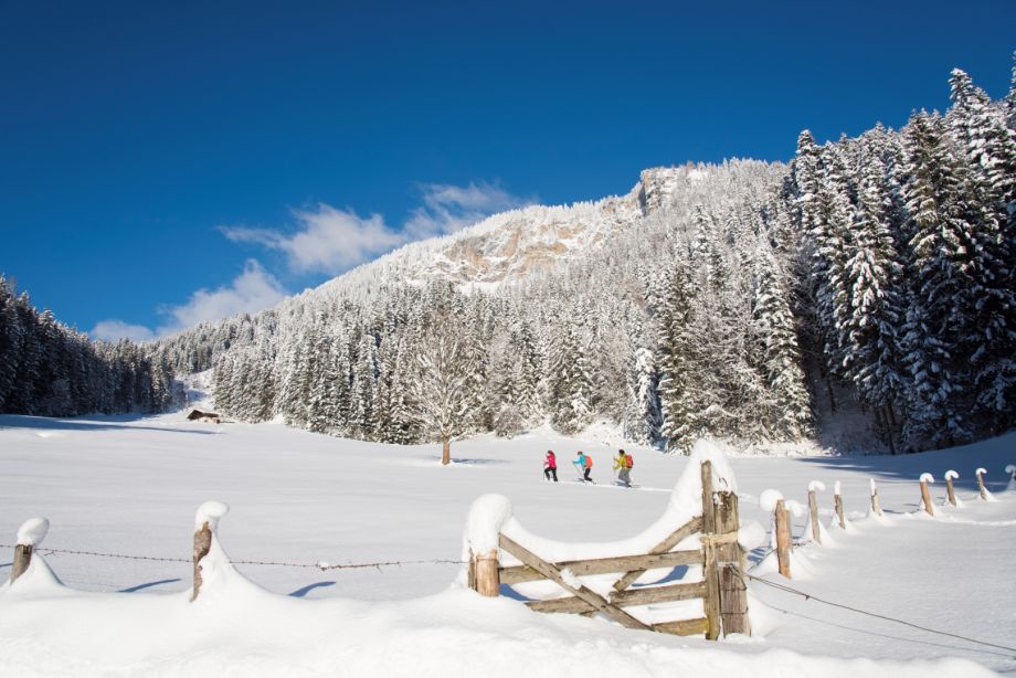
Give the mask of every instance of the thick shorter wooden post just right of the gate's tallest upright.
[[[716, 536], [707, 545], [715, 552], [719, 590], [719, 612], [723, 635], [751, 635], [748, 616], [748, 586], [741, 572], [741, 545], [738, 543], [738, 496], [717, 492]], [[709, 539], [708, 534], [703, 538]], [[708, 618], [708, 617], [707, 617]]]

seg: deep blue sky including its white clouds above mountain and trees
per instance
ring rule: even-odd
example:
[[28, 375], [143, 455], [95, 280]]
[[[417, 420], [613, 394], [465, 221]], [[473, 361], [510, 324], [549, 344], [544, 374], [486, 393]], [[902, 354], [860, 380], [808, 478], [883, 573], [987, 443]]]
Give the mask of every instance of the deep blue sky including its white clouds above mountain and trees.
[[953, 66], [1008, 88], [1012, 0], [834, 4], [0, 0], [0, 272], [145, 337], [646, 167], [899, 126]]

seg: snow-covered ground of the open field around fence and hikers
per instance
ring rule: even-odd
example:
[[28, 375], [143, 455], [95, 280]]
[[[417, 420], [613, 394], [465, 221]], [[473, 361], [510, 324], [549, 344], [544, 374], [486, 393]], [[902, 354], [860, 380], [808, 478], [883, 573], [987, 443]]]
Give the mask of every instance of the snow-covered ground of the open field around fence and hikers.
[[[599, 437], [599, 436], [597, 436]], [[547, 448], [561, 483], [542, 480]], [[591, 453], [594, 479], [568, 465]], [[750, 585], [755, 635], [708, 643], [625, 631], [603, 619], [538, 615], [508, 597], [453, 586], [454, 563], [377, 569], [237, 565], [210, 595], [188, 603], [191, 568], [50, 553], [45, 549], [189, 559], [194, 510], [230, 505], [219, 537], [235, 561], [363, 563], [449, 560], [466, 513], [486, 492], [511, 499], [521, 525], [560, 541], [613, 541], [658, 519], [688, 465], [626, 447], [637, 489], [610, 485], [616, 446], [540, 432], [436, 446], [337, 439], [279, 425], [149, 419], [0, 416], [0, 543], [28, 518], [51, 529], [36, 568], [0, 590], [0, 674], [349, 676], [978, 676], [1016, 671], [1016, 651], [864, 616]], [[821, 598], [1001, 646], [1016, 645], [1016, 491], [1004, 467], [1016, 435], [902, 457], [733, 458], [741, 517], [766, 528], [768, 488], [805, 500], [813, 479], [830, 519], [843, 485], [851, 522], [828, 543], [795, 552], [793, 586]], [[998, 501], [977, 500], [973, 472], [988, 469]], [[960, 473], [964, 505], [917, 513], [917, 478]], [[868, 484], [883, 521], [866, 518]], [[806, 517], [795, 518], [795, 536]], [[759, 561], [766, 549], [752, 553]], [[0, 548], [0, 578], [12, 551]], [[66, 585], [47, 582], [49, 563]], [[761, 574], [770, 569], [764, 562]], [[770, 581], [777, 575], [765, 574]], [[271, 593], [269, 593], [271, 592]], [[311, 600], [314, 598], [314, 600]], [[980, 666], [978, 666], [980, 665]], [[986, 667], [986, 668], [984, 668]]]

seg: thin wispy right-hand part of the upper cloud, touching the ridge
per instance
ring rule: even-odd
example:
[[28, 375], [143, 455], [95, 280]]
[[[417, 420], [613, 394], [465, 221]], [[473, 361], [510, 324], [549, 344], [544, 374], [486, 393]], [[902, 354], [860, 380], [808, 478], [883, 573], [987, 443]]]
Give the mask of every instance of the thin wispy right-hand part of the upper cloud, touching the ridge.
[[423, 205], [413, 210], [403, 229], [410, 240], [447, 235], [497, 212], [533, 202], [485, 181], [470, 181], [468, 186], [425, 183], [421, 189]]

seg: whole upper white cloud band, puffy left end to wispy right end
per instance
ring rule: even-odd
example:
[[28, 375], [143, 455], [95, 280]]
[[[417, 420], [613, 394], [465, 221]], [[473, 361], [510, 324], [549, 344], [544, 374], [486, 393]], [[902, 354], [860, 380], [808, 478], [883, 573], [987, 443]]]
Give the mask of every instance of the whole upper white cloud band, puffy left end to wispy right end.
[[295, 273], [336, 275], [411, 241], [454, 233], [495, 212], [532, 202], [483, 181], [464, 187], [426, 183], [420, 188], [423, 204], [410, 213], [401, 230], [389, 226], [380, 214], [364, 218], [320, 203], [314, 210], [293, 213], [298, 227], [292, 234], [248, 226], [221, 226], [220, 231], [233, 242], [255, 243], [284, 253]]

